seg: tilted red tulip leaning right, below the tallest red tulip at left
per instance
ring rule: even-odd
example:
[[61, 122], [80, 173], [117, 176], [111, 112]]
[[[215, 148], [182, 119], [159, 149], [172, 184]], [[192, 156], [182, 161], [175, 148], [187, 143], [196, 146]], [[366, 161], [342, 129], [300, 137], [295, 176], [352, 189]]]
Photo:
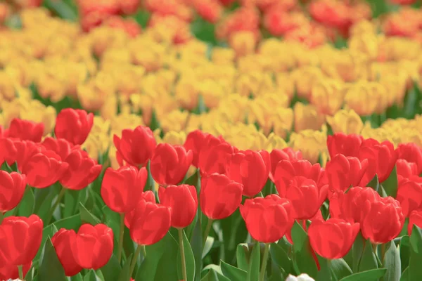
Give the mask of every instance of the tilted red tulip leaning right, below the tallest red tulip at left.
[[73, 150], [64, 160], [68, 170], [60, 179], [64, 188], [81, 190], [92, 183], [101, 173], [101, 165], [91, 159], [84, 150]]

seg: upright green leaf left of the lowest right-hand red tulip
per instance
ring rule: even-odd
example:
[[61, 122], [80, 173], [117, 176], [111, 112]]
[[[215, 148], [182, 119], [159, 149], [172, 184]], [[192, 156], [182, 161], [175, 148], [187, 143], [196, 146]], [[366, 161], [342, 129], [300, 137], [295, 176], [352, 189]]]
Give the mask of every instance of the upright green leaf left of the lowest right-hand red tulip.
[[318, 275], [318, 268], [312, 256], [312, 247], [309, 243], [309, 237], [302, 226], [295, 221], [292, 228], [293, 239], [293, 265], [299, 273], [307, 273], [309, 276], [315, 278]]

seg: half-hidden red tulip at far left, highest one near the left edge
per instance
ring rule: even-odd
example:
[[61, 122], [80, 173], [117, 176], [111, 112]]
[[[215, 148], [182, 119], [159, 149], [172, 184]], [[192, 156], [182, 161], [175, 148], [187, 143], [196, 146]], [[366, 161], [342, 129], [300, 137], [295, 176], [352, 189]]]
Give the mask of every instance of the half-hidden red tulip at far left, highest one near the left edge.
[[18, 138], [21, 141], [39, 143], [44, 133], [44, 123], [35, 123], [29, 120], [14, 118], [8, 128], [9, 138]]

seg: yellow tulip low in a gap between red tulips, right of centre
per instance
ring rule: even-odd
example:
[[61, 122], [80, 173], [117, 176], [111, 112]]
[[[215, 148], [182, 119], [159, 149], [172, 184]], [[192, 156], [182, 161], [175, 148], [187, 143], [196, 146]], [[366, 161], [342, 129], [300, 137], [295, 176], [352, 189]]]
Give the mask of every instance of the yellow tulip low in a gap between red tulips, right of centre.
[[290, 135], [289, 146], [293, 150], [300, 150], [303, 158], [311, 163], [316, 163], [321, 156], [323, 166], [328, 159], [328, 149], [326, 145], [327, 134], [325, 131], [303, 130]]

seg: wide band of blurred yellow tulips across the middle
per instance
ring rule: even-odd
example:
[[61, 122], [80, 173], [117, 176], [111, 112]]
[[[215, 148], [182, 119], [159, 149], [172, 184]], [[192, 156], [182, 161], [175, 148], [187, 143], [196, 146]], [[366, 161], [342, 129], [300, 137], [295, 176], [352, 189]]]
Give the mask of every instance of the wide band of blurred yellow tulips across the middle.
[[421, 85], [421, 44], [383, 37], [371, 22], [354, 26], [348, 48], [266, 39], [255, 50], [248, 34], [232, 48], [195, 39], [174, 46], [153, 28], [130, 38], [110, 27], [84, 34], [42, 9], [21, 19], [21, 30], [0, 30], [1, 124], [44, 122], [47, 135], [56, 110], [32, 92], [49, 104], [68, 99], [96, 112], [84, 147], [92, 157], [108, 152], [112, 164], [113, 134], [153, 122], [158, 142], [182, 144], [201, 129], [239, 149], [290, 145], [312, 162], [328, 157], [327, 124], [333, 132], [422, 145], [421, 116], [378, 129], [359, 117], [402, 107], [407, 90]]

